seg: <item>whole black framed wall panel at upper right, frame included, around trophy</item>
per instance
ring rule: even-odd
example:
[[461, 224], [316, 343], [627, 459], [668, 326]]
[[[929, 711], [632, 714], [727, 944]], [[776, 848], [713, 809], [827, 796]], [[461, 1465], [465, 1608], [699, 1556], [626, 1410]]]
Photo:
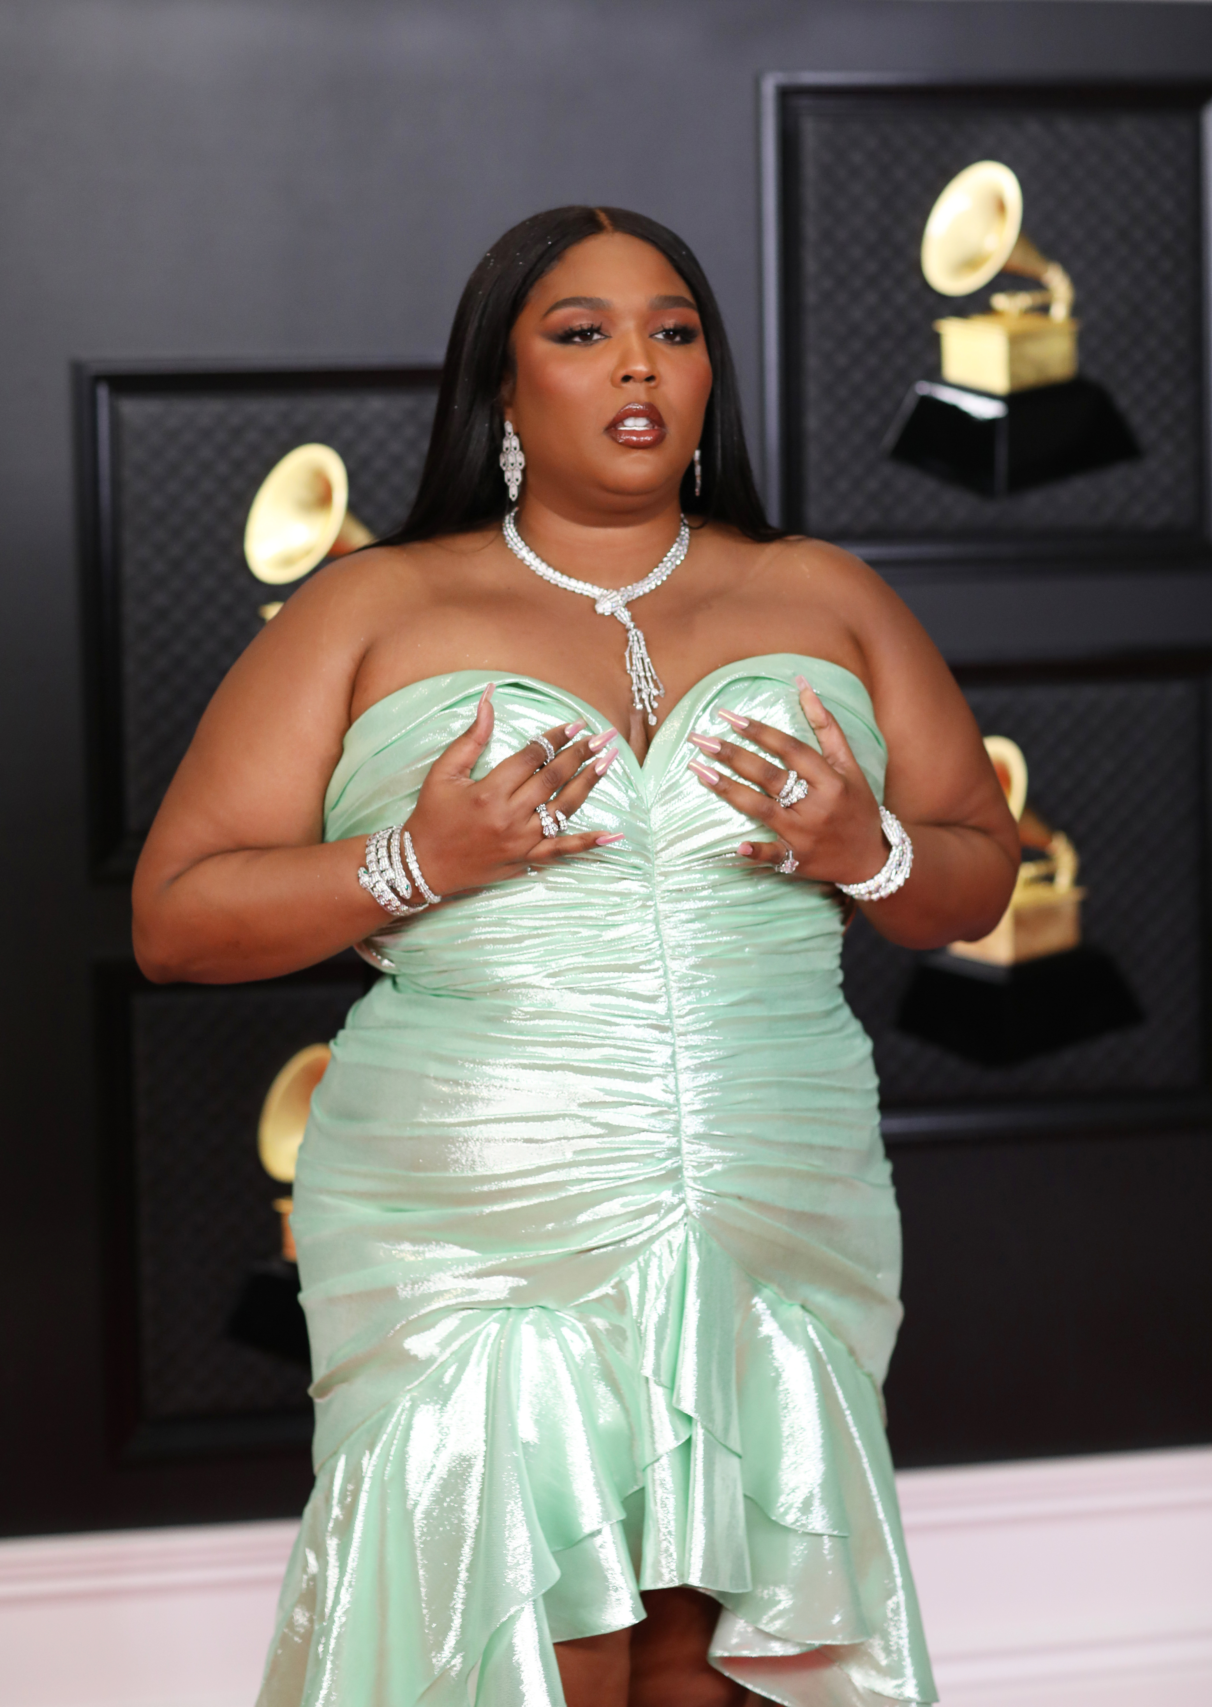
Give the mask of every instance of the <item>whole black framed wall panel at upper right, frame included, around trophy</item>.
[[[766, 77], [772, 514], [896, 570], [1212, 563], [1209, 94]], [[942, 297], [920, 268], [939, 191], [982, 159], [1014, 169], [1024, 230], [1072, 273], [1081, 372], [1106, 387], [1140, 447], [1139, 459], [995, 498], [886, 454], [906, 394], [939, 379], [932, 323], [983, 307], [985, 292]]]

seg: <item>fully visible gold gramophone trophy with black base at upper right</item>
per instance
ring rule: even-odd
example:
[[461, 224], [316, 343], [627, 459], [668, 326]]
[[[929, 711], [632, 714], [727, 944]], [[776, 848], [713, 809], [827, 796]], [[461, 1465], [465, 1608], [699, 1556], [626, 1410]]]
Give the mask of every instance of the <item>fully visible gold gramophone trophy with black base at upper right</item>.
[[944, 297], [971, 295], [999, 273], [1034, 288], [993, 292], [987, 312], [934, 323], [942, 379], [913, 386], [888, 456], [1005, 497], [1140, 454], [1110, 394], [1077, 370], [1074, 283], [1024, 234], [1009, 166], [976, 160], [951, 179], [925, 222], [922, 273]]

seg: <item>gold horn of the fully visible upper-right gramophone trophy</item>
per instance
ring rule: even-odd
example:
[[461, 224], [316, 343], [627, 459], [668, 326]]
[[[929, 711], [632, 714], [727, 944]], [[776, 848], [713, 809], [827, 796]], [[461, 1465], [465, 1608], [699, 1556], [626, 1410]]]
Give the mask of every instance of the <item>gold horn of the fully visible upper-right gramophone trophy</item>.
[[1046, 300], [1052, 319], [1069, 319], [1074, 304], [1069, 273], [1023, 234], [1023, 188], [1000, 160], [966, 166], [934, 203], [922, 236], [922, 271], [944, 297], [966, 297], [999, 273], [1038, 278], [1046, 297], [1023, 304], [1007, 297], [1011, 312]]

